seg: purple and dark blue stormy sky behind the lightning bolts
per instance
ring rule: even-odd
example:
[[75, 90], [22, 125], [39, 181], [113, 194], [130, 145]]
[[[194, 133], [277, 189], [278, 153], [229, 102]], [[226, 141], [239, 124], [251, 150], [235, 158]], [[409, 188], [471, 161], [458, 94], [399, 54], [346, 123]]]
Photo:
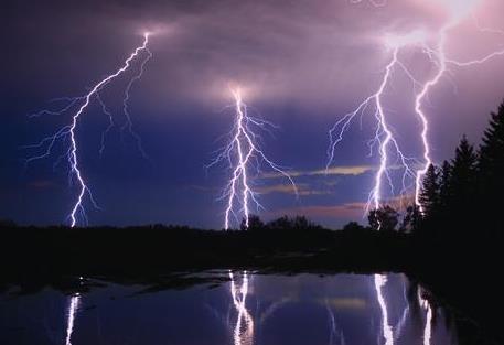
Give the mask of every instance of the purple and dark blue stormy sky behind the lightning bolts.
[[[254, 179], [266, 208], [260, 216], [302, 214], [332, 228], [363, 220], [378, 164], [366, 144], [374, 118], [366, 114], [362, 126], [353, 123], [325, 174], [328, 130], [378, 87], [390, 60], [384, 37], [415, 30], [432, 37], [447, 18], [463, 13], [449, 31], [449, 58], [480, 58], [504, 47], [501, 0], [388, 0], [382, 7], [365, 0], [15, 1], [1, 4], [0, 13], [0, 218], [34, 225], [67, 224], [76, 188], [64, 161], [53, 166], [67, 143], [26, 166], [23, 160], [41, 151], [22, 148], [67, 125], [72, 111], [29, 115], [64, 105], [51, 101], [56, 97], [86, 94], [141, 44], [146, 30], [153, 32], [153, 57], [131, 89], [129, 109], [149, 159], [120, 132], [127, 77], [101, 94], [117, 121], [101, 157], [108, 118], [99, 104], [93, 101], [78, 122], [79, 165], [100, 206], [86, 204], [89, 225], [222, 227], [224, 202], [217, 198], [229, 171], [205, 165], [233, 126], [234, 114], [225, 109], [233, 104], [229, 84], [240, 85], [245, 101], [279, 127], [262, 133], [261, 147], [300, 190], [297, 200], [287, 181], [265, 169]], [[400, 60], [421, 83], [436, 73], [421, 47], [405, 48]], [[450, 66], [432, 89], [426, 112], [435, 162], [451, 158], [463, 134], [479, 142], [504, 97], [503, 65], [497, 56]], [[385, 107], [407, 155], [420, 158], [415, 91], [397, 71]]]

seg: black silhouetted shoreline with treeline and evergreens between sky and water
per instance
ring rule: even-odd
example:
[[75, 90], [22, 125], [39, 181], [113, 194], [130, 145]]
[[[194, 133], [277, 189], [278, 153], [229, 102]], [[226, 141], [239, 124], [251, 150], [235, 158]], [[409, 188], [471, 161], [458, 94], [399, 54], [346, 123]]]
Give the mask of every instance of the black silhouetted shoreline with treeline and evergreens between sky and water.
[[463, 138], [453, 160], [429, 168], [421, 209], [384, 206], [369, 213], [369, 226], [350, 223], [337, 231], [304, 217], [268, 224], [251, 217], [246, 231], [162, 225], [35, 228], [1, 222], [0, 291], [88, 288], [76, 277], [181, 288], [215, 282], [187, 276], [211, 269], [404, 272], [452, 309], [462, 344], [502, 344], [503, 195], [504, 105], [492, 115], [478, 150]]

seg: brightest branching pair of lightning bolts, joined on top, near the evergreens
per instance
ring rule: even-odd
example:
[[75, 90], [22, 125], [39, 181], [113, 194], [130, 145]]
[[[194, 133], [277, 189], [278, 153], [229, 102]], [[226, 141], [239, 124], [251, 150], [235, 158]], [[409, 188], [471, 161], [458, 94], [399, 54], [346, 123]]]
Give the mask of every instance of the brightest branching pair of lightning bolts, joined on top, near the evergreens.
[[[352, 0], [352, 3], [361, 2], [360, 0]], [[373, 148], [375, 144], [378, 145], [378, 155], [379, 155], [379, 164], [376, 169], [375, 177], [374, 177], [374, 186], [369, 192], [369, 197], [367, 202], [366, 213], [369, 211], [371, 207], [375, 209], [382, 206], [383, 204], [383, 195], [380, 193], [384, 180], [388, 181], [390, 185], [392, 193], [394, 194], [393, 182], [388, 171], [394, 168], [400, 166], [403, 170], [403, 188], [400, 194], [408, 193], [411, 186], [415, 187], [415, 204], [419, 207], [420, 212], [422, 212], [421, 204], [420, 204], [420, 191], [422, 186], [422, 180], [430, 164], [433, 163], [431, 158], [431, 145], [429, 142], [429, 117], [426, 112], [426, 101], [429, 98], [429, 95], [432, 93], [433, 88], [440, 83], [440, 80], [450, 73], [448, 66], [453, 65], [455, 67], [470, 67], [474, 65], [480, 65], [489, 62], [492, 58], [504, 56], [504, 48], [494, 51], [490, 54], [486, 54], [482, 57], [471, 60], [471, 61], [457, 61], [453, 58], [449, 58], [446, 52], [446, 45], [448, 41], [448, 32], [460, 24], [460, 22], [469, 14], [472, 7], [475, 4], [476, 1], [467, 1], [468, 3], [463, 2], [454, 2], [449, 3], [450, 7], [450, 17], [443, 23], [441, 29], [435, 35], [436, 39], [436, 46], [430, 47], [427, 44], [427, 32], [423, 31], [414, 31], [407, 35], [400, 36], [392, 36], [387, 37], [386, 43], [389, 47], [393, 48], [393, 56], [388, 62], [385, 73], [382, 77], [382, 83], [379, 84], [378, 89], [375, 94], [368, 96], [361, 103], [355, 110], [352, 112], [346, 114], [341, 119], [336, 121], [336, 123], [331, 128], [329, 131], [330, 137], [330, 145], [328, 149], [328, 163], [326, 169], [334, 161], [335, 157], [335, 149], [337, 144], [344, 139], [345, 132], [348, 130], [350, 126], [352, 125], [355, 117], [358, 115], [362, 117], [366, 110], [372, 107], [374, 109], [374, 116], [377, 121], [375, 137], [369, 140], [369, 153], [373, 154]], [[385, 1], [376, 2], [371, 1], [371, 3], [375, 7], [383, 7], [386, 4]], [[492, 34], [504, 34], [502, 30], [495, 30], [490, 28], [483, 28], [476, 21], [478, 29], [483, 33], [492, 33]], [[419, 82], [414, 77], [414, 75], [408, 71], [408, 68], [400, 62], [398, 55], [400, 53], [401, 47], [405, 46], [418, 46], [426, 53], [430, 60], [430, 62], [436, 66], [436, 72], [432, 76], [427, 78], [427, 80]], [[418, 118], [421, 130], [419, 136], [421, 138], [421, 145], [422, 145], [422, 154], [421, 154], [421, 162], [417, 161], [414, 158], [406, 157], [398, 144], [398, 141], [395, 139], [394, 132], [387, 119], [387, 110], [383, 106], [383, 100], [385, 96], [385, 91], [387, 86], [393, 83], [393, 73], [396, 67], [400, 67], [405, 75], [414, 83], [415, 86], [415, 105], [414, 105], [414, 112]], [[393, 165], [390, 162], [389, 154], [394, 150], [394, 153], [398, 158], [398, 165]], [[407, 181], [412, 180], [411, 185], [408, 185]]]

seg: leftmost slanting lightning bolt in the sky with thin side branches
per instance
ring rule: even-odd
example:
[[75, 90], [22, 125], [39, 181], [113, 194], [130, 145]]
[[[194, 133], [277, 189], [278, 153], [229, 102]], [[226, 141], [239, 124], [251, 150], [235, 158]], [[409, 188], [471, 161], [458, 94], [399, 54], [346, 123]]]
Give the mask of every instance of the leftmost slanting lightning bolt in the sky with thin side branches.
[[106, 76], [104, 79], [98, 82], [95, 86], [93, 86], [93, 88], [85, 96], [73, 97], [73, 98], [63, 98], [64, 100], [68, 100], [68, 105], [66, 105], [64, 108], [62, 108], [57, 111], [42, 110], [42, 111], [39, 111], [39, 112], [32, 115], [32, 117], [36, 117], [36, 116], [41, 116], [41, 115], [63, 115], [66, 111], [69, 111], [74, 106], [77, 106], [78, 104], [81, 104], [81, 105], [78, 105], [76, 112], [72, 116], [72, 121], [69, 125], [62, 127], [53, 136], [42, 139], [37, 144], [25, 147], [29, 149], [45, 148], [45, 151], [42, 154], [28, 159], [26, 163], [29, 163], [31, 161], [46, 158], [47, 155], [50, 155], [53, 151], [54, 145], [56, 144], [56, 142], [58, 140], [68, 140], [69, 141], [67, 151], [65, 152], [65, 154], [63, 154], [62, 157], [58, 158], [57, 162], [61, 159], [66, 158], [66, 160], [69, 164], [69, 180], [76, 181], [77, 186], [78, 186], [78, 194], [77, 194], [76, 201], [68, 215], [68, 218], [71, 220], [71, 227], [76, 226], [77, 218], [83, 219], [87, 224], [87, 216], [86, 216], [85, 207], [83, 205], [84, 198], [86, 195], [88, 196], [92, 204], [95, 207], [98, 207], [93, 197], [92, 191], [87, 186], [86, 179], [84, 177], [84, 175], [81, 171], [81, 166], [79, 166], [79, 160], [78, 160], [78, 154], [77, 154], [78, 144], [77, 144], [77, 139], [76, 139], [76, 131], [77, 131], [77, 125], [81, 119], [81, 116], [88, 108], [92, 100], [96, 98], [98, 100], [98, 103], [100, 104], [103, 111], [109, 117], [109, 126], [107, 127], [107, 129], [104, 131], [104, 133], [101, 136], [101, 148], [99, 150], [99, 152], [101, 154], [105, 149], [105, 136], [114, 127], [114, 119], [112, 119], [110, 111], [106, 108], [104, 101], [101, 100], [99, 91], [101, 89], [104, 89], [115, 78], [119, 77], [125, 72], [127, 72], [131, 67], [131, 63], [133, 62], [133, 60], [136, 60], [142, 52], [144, 52], [147, 55], [140, 64], [140, 72], [137, 75], [135, 75], [128, 83], [122, 104], [124, 104], [124, 112], [125, 112], [125, 116], [127, 119], [124, 128], [126, 128], [130, 131], [130, 133], [137, 140], [140, 152], [146, 157], [144, 151], [141, 145], [140, 137], [132, 130], [132, 121], [131, 121], [131, 117], [128, 111], [128, 100], [129, 100], [129, 91], [131, 89], [131, 86], [133, 85], [133, 83], [136, 80], [140, 79], [141, 75], [143, 73], [144, 65], [152, 57], [152, 53], [148, 48], [149, 36], [150, 36], [150, 33], [148, 33], [148, 32], [144, 33], [142, 44], [135, 48], [135, 51], [125, 61], [124, 65], [119, 69], [117, 69], [115, 73]]

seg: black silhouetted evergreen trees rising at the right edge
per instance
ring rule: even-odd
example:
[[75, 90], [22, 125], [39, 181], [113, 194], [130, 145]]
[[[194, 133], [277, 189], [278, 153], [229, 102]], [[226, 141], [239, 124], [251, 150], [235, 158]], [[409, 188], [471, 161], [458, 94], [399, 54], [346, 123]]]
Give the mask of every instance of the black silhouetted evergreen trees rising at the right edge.
[[500, 211], [504, 195], [504, 103], [492, 112], [476, 150], [465, 137], [455, 155], [441, 166], [430, 165], [423, 179], [419, 231], [446, 235], [491, 235], [504, 229]]

